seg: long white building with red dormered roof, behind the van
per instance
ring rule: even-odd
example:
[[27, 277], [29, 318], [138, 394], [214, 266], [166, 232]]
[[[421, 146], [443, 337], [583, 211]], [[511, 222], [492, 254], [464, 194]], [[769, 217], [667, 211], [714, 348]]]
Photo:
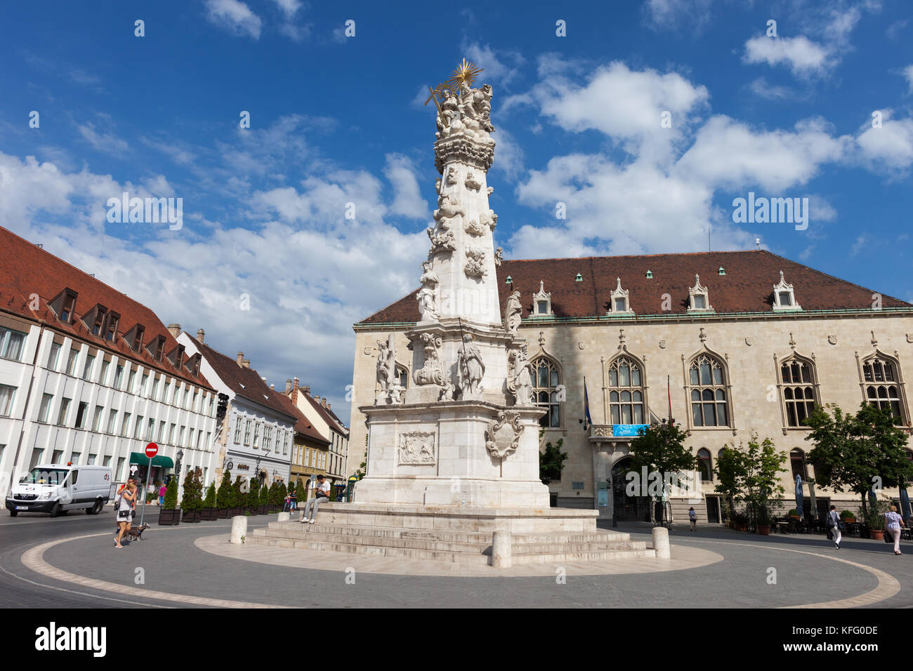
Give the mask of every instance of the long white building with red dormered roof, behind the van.
[[0, 474], [110, 466], [214, 476], [216, 393], [151, 309], [0, 228]]

